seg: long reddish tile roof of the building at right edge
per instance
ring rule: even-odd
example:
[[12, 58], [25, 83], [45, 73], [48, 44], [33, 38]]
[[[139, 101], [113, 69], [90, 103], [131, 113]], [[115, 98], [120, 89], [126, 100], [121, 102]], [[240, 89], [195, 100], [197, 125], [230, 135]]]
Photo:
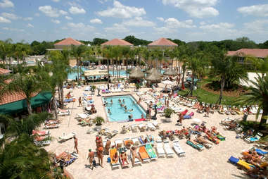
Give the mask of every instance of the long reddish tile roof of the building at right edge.
[[268, 56], [268, 49], [239, 49], [237, 51], [228, 51], [228, 56], [255, 56], [257, 58], [266, 58]]

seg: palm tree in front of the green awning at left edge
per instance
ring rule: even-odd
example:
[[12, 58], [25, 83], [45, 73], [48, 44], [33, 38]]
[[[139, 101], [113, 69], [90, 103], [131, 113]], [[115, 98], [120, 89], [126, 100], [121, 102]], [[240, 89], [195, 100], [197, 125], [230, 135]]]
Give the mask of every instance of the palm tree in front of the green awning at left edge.
[[20, 92], [26, 98], [27, 111], [32, 114], [31, 99], [34, 94], [37, 94], [44, 87], [44, 82], [36, 74], [19, 74], [13, 75], [11, 82], [4, 85], [0, 91], [0, 97], [5, 93]]

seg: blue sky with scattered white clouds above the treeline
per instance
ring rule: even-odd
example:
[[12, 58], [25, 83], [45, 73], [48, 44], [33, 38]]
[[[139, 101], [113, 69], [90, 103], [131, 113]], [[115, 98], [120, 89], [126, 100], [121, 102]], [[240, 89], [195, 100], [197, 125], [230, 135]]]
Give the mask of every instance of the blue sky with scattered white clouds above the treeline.
[[0, 39], [268, 40], [268, 0], [0, 0]]

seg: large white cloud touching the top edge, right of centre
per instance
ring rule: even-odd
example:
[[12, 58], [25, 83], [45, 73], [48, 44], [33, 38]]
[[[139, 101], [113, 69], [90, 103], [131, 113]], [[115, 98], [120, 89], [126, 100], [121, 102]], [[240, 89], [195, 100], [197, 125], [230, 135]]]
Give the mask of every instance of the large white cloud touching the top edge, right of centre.
[[219, 0], [162, 0], [162, 4], [171, 4], [186, 11], [190, 16], [204, 18], [218, 16], [219, 11], [213, 8]]

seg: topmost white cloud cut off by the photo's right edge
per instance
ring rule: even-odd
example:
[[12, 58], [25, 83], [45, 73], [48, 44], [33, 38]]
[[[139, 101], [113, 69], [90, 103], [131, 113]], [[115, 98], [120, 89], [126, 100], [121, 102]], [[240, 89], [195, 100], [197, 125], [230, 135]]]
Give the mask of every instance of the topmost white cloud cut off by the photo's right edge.
[[260, 4], [260, 5], [255, 5], [255, 6], [243, 6], [243, 7], [237, 8], [237, 11], [245, 15], [268, 17], [268, 4]]

